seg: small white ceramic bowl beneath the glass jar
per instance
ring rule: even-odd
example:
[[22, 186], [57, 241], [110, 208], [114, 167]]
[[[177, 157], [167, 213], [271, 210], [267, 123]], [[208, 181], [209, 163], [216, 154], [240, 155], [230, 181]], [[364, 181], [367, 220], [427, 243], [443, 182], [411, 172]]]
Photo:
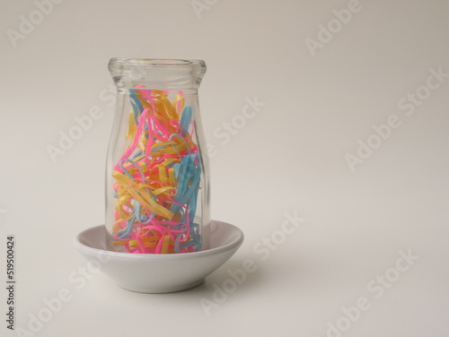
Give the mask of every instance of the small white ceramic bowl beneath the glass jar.
[[[201, 284], [239, 249], [242, 230], [212, 220], [210, 249], [186, 254], [129, 254], [106, 249], [104, 225], [86, 229], [75, 238], [75, 246], [88, 260], [101, 262], [101, 272], [123, 289], [164, 293], [190, 289]], [[98, 263], [97, 263], [98, 264]]]

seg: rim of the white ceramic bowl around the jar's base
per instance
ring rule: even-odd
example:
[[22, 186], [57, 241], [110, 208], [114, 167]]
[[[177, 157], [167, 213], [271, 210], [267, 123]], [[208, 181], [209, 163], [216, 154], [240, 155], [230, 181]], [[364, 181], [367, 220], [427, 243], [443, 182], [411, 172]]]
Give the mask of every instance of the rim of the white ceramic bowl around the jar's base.
[[[76, 238], [74, 239], [74, 245], [78, 249], [78, 251], [89, 254], [89, 255], [96, 255], [97, 257], [99, 255], [108, 255], [110, 257], [115, 257], [119, 259], [126, 259], [126, 260], [179, 260], [179, 259], [189, 259], [189, 258], [198, 258], [201, 256], [208, 256], [208, 255], [217, 255], [220, 253], [227, 252], [229, 250], [232, 250], [233, 248], [238, 248], [242, 245], [244, 234], [241, 229], [238, 227], [227, 223], [223, 221], [218, 220], [211, 220], [212, 223], [216, 223], [217, 226], [226, 226], [230, 227], [236, 232], [235, 238], [233, 240], [223, 246], [217, 246], [214, 248], [210, 248], [207, 250], [202, 250], [199, 252], [192, 252], [192, 253], [184, 253], [184, 254], [132, 254], [132, 253], [125, 253], [125, 252], [113, 252], [106, 249], [101, 248], [94, 248], [92, 246], [86, 246], [84, 243], [80, 240], [84, 235], [86, 235], [89, 231], [97, 231], [97, 230], [103, 230], [105, 228], [105, 225], [98, 225], [91, 227], [89, 229], [84, 229], [81, 231]], [[211, 232], [211, 237], [214, 235], [213, 232]]]

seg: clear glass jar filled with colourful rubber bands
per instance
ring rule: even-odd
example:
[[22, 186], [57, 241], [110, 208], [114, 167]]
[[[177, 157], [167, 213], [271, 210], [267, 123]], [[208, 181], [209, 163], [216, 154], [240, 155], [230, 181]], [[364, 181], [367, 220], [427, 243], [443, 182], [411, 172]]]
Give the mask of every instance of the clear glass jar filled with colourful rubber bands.
[[201, 60], [112, 58], [117, 86], [106, 165], [112, 251], [208, 248], [209, 164], [198, 107]]

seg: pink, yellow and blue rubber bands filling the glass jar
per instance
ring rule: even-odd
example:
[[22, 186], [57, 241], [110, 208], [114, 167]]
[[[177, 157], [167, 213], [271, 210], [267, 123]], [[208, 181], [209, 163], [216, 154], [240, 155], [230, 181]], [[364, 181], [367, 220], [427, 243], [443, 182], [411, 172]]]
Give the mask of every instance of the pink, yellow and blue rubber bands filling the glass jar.
[[[129, 90], [126, 149], [113, 169], [116, 198], [111, 245], [137, 254], [201, 250], [194, 222], [201, 160], [192, 107], [182, 91]], [[124, 247], [124, 249], [123, 249]]]

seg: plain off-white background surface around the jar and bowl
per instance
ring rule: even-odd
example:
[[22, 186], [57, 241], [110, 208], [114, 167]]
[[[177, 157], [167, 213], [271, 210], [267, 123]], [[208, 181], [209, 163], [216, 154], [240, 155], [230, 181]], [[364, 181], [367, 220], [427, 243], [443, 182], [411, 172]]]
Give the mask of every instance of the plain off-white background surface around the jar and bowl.
[[[31, 1], [2, 0], [2, 317], [13, 234], [15, 327], [28, 330], [30, 315], [60, 289], [72, 295], [37, 336], [338, 336], [329, 324], [345, 322], [342, 307], [361, 297], [369, 309], [342, 336], [447, 336], [449, 78], [436, 90], [423, 86], [430, 69], [449, 73], [449, 3], [360, 0], [339, 25], [332, 11], [348, 8], [346, 0], [205, 1], [196, 13], [190, 0], [66, 0], [13, 40], [8, 31], [21, 33], [21, 15], [39, 22], [40, 14]], [[319, 41], [328, 23], [332, 39], [311, 52], [307, 39]], [[69, 281], [86, 266], [73, 239], [104, 221], [114, 108], [101, 92], [113, 56], [207, 63], [199, 99], [216, 150], [212, 214], [240, 227], [245, 242], [196, 289], [137, 294], [101, 273], [81, 289]], [[407, 116], [398, 103], [417, 90], [426, 99]], [[254, 97], [265, 106], [224, 144], [223, 123]], [[48, 146], [95, 106], [101, 118], [53, 162]], [[401, 126], [351, 170], [345, 156], [357, 156], [357, 142], [392, 115]], [[257, 247], [286, 212], [304, 223], [262, 260]], [[367, 285], [397, 275], [390, 268], [400, 251], [419, 259], [377, 298]], [[257, 270], [207, 316], [200, 299], [213, 300], [213, 286], [245, 259]], [[21, 334], [2, 318], [0, 335]]]

